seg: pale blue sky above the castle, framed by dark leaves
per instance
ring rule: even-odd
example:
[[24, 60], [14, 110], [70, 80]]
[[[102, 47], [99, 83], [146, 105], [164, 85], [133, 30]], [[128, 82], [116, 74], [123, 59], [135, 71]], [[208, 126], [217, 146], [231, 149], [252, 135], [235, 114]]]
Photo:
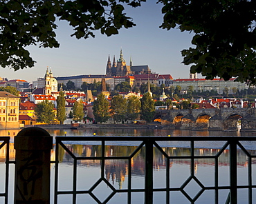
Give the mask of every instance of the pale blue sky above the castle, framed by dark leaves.
[[53, 76], [82, 74], [105, 74], [107, 59], [119, 59], [120, 49], [127, 64], [130, 57], [133, 65], [149, 65], [152, 72], [171, 74], [174, 79], [188, 78], [190, 66], [183, 65], [181, 50], [192, 47], [192, 34], [178, 29], [163, 30], [162, 4], [148, 1], [140, 8], [128, 7], [125, 12], [133, 18], [136, 27], [119, 30], [119, 34], [107, 37], [95, 32], [95, 38], [71, 37], [73, 28], [65, 21], [57, 21], [55, 31], [60, 48], [30, 46], [31, 57], [37, 61], [35, 67], [14, 71], [0, 68], [0, 77], [24, 79], [28, 82], [44, 77], [47, 68]]

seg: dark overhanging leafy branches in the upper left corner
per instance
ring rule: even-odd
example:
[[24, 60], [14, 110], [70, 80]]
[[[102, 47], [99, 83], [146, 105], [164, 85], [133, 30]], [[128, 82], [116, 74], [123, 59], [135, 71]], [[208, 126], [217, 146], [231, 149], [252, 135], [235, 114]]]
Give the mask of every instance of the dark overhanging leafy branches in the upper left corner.
[[[121, 3], [140, 6], [143, 0], [6, 0], [0, 1], [0, 65], [15, 70], [31, 68], [35, 61], [26, 50], [28, 45], [58, 48], [56, 21], [68, 21], [77, 39], [94, 37], [93, 32], [118, 34], [120, 28], [135, 24], [123, 12]], [[120, 3], [119, 3], [120, 2]]]

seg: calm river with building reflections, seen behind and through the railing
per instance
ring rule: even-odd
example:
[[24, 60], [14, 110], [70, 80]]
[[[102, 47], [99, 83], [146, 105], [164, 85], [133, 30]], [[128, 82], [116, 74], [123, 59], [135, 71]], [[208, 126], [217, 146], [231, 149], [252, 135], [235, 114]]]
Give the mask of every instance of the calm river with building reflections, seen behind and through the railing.
[[[255, 136], [253, 132], [222, 132], [222, 131], [191, 131], [191, 130], [120, 130], [120, 129], [95, 129], [95, 130], [47, 130], [54, 138], [55, 136]], [[0, 130], [0, 136], [6, 136], [9, 134], [11, 136], [11, 142], [19, 130]], [[214, 155], [217, 154], [219, 148], [222, 147], [222, 142], [210, 143], [205, 141], [203, 143], [196, 144], [195, 152], [198, 155]], [[244, 143], [246, 149], [250, 151], [251, 154], [256, 153], [256, 143], [247, 142]], [[190, 153], [190, 149], [187, 147], [187, 142], [176, 142], [176, 143], [161, 143], [164, 151], [169, 155], [184, 156]], [[68, 150], [71, 150], [76, 156], [96, 156], [100, 154], [100, 147], [94, 144], [84, 144], [84, 143], [66, 143]], [[136, 146], [134, 143], [122, 143], [121, 145], [107, 145], [107, 152], [111, 156], [126, 156], [130, 154]], [[12, 149], [12, 143], [10, 144], [10, 154], [11, 159], [14, 159], [14, 150]], [[54, 155], [54, 152], [53, 152]], [[60, 149], [61, 163], [59, 171], [59, 190], [72, 190], [73, 179], [71, 175], [73, 172], [73, 160], [71, 156], [68, 155], [62, 148]], [[242, 151], [237, 152], [237, 171], [238, 171], [238, 184], [248, 185], [245, 176], [248, 174], [248, 158], [246, 154]], [[54, 158], [53, 158], [54, 159]], [[132, 165], [132, 187], [140, 188], [144, 187], [144, 177], [145, 170], [143, 163], [143, 151], [138, 152], [138, 155], [134, 157]], [[165, 163], [166, 160], [161, 154], [161, 152], [154, 151], [154, 187], [164, 187], [165, 183]], [[253, 175], [256, 175], [256, 160], [253, 160]], [[214, 161], [213, 159], [197, 159], [194, 163], [194, 173], [196, 178], [204, 185], [214, 185]], [[4, 172], [4, 163], [0, 164], [1, 172]], [[54, 170], [55, 165], [51, 165], [51, 180], [54, 181]], [[219, 185], [229, 184], [229, 163], [228, 163], [228, 151], [224, 151], [221, 156], [219, 156]], [[127, 188], [127, 162], [126, 161], [109, 161], [105, 165], [104, 169], [105, 178], [113, 187], [116, 189], [126, 189]], [[3, 176], [3, 174], [2, 174]], [[99, 161], [81, 161], [77, 165], [77, 190], [88, 190], [91, 185], [98, 181], [100, 176], [100, 162]], [[170, 162], [170, 176], [171, 182], [170, 187], [180, 187], [186, 179], [190, 176], [190, 161], [186, 159], [173, 159]], [[253, 185], [256, 183], [256, 178], [253, 176]], [[3, 183], [0, 184], [0, 190], [3, 191]], [[13, 165], [10, 167], [10, 199], [9, 203], [13, 203]], [[53, 193], [53, 182], [52, 182]], [[185, 191], [193, 198], [201, 189], [196, 182], [190, 182]], [[100, 201], [104, 201], [105, 198], [111, 193], [111, 190], [104, 183], [100, 183], [99, 187], [93, 190], [93, 194], [98, 196]], [[248, 203], [248, 193], [246, 190], [239, 190], [238, 192], [239, 203]], [[254, 194], [256, 192], [254, 191]], [[228, 195], [227, 190], [219, 192], [219, 203], [225, 203]], [[144, 203], [143, 193], [134, 193], [131, 196], [132, 203], [141, 204]], [[87, 203], [96, 203], [93, 198], [88, 195], [77, 196], [77, 204], [82, 204], [86, 200]], [[253, 201], [256, 203], [256, 198]], [[109, 203], [126, 203], [126, 194], [116, 194], [111, 198]], [[190, 203], [181, 192], [172, 192], [170, 194], [171, 203]], [[1, 203], [1, 199], [0, 199]], [[51, 196], [51, 203], [53, 203], [53, 196]], [[72, 196], [60, 195], [58, 196], [58, 203], [72, 203]], [[154, 203], [161, 204], [166, 203], [165, 194], [159, 192], [154, 193]], [[214, 191], [208, 190], [203, 193], [196, 203], [212, 203], [214, 204]]]

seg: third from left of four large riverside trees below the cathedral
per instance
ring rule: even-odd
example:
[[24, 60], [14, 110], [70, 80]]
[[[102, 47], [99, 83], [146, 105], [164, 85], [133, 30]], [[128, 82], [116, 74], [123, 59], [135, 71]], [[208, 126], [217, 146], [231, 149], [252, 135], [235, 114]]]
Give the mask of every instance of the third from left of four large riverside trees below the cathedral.
[[140, 114], [141, 102], [136, 96], [130, 96], [127, 103], [127, 119], [134, 121]]

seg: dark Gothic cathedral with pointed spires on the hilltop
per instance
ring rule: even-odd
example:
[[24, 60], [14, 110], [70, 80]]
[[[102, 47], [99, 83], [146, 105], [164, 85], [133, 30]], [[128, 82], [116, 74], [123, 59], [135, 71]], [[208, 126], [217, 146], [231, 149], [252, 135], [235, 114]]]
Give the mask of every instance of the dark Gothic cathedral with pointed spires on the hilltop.
[[130, 64], [127, 65], [125, 59], [122, 57], [122, 50], [120, 50], [120, 57], [116, 61], [115, 56], [113, 57], [113, 63], [110, 61], [110, 57], [107, 61], [107, 76], [127, 76], [133, 74], [150, 74], [151, 70], [148, 65], [132, 65], [130, 59]]

